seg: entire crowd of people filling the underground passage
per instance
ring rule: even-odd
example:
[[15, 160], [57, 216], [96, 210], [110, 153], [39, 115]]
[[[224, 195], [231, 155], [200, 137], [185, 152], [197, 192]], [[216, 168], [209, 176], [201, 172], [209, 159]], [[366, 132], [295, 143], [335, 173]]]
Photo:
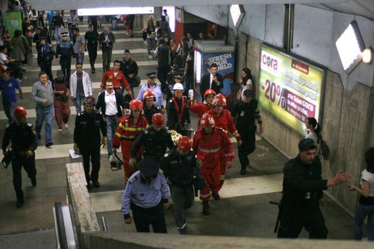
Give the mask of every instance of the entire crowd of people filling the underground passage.
[[[15, 8], [22, 5], [18, 2], [15, 1]], [[181, 234], [187, 233], [184, 210], [193, 205], [197, 190], [200, 190], [202, 213], [210, 215], [209, 201], [211, 197], [220, 200], [219, 192], [224, 185], [226, 169], [232, 167], [235, 156], [230, 137], [237, 141], [239, 173], [246, 175], [250, 166], [248, 156], [255, 150], [257, 127], [258, 133], [264, 131], [249, 68], [242, 69], [241, 88], [237, 101], [230, 107], [231, 112], [227, 109], [226, 97], [221, 93], [223, 80], [215, 63], [209, 66], [209, 74], [202, 78], [199, 87], [202, 102], [197, 103], [188, 95], [194, 78], [193, 34], [188, 32], [186, 37], [181, 38], [180, 44], [175, 44], [164, 10], [160, 20], [153, 20], [150, 16], [147, 26], [142, 29], [148, 56], [150, 59], [155, 57], [158, 66], [157, 72], [146, 74], [147, 83], [140, 87], [135, 97], [134, 88], [140, 85], [138, 65], [131, 58], [130, 50], [126, 49], [122, 60], [114, 60], [113, 68], [110, 68], [116, 37], [108, 27], [104, 27], [100, 34], [97, 31], [102, 27], [99, 19], [105, 17], [91, 16], [89, 31], [81, 35], [80, 18], [74, 10], [70, 11], [65, 22], [59, 11], [48, 11], [46, 25], [43, 12], [37, 13], [30, 7], [25, 13], [22, 31], [16, 31], [14, 37], [6, 27], [2, 28], [3, 45], [0, 47], [3, 108], [9, 121], [2, 148], [4, 155], [12, 158], [17, 208], [24, 202], [21, 167], [24, 166], [35, 187], [34, 151], [38, 139], [41, 139], [43, 122], [45, 146], [53, 146], [53, 115], [59, 132], [69, 128], [69, 99], [77, 112], [73, 149], [83, 156], [88, 189], [92, 188], [91, 182], [93, 187], [100, 186], [100, 147], [107, 146], [110, 162], [121, 147], [126, 184], [121, 211], [125, 223], [131, 224], [129, 210], [132, 210], [139, 232], [149, 232], [150, 225], [154, 232], [167, 232], [163, 208], [169, 207], [169, 190], [174, 202], [175, 222]], [[124, 18], [111, 18], [113, 28], [121, 19]], [[134, 17], [128, 15], [125, 19], [126, 25], [129, 25], [128, 37], [133, 37]], [[67, 27], [68, 32], [61, 33], [61, 27]], [[214, 32], [209, 32], [208, 37], [215, 38]], [[204, 39], [203, 33], [199, 34], [199, 38]], [[51, 39], [58, 41], [56, 48], [52, 46]], [[20, 98], [23, 98], [19, 82], [32, 41], [36, 42], [40, 66], [39, 81], [34, 83], [31, 91], [31, 99], [36, 102], [35, 129], [27, 122], [27, 111], [16, 105], [15, 92], [17, 89]], [[101, 93], [96, 100], [91, 76], [83, 70], [83, 61], [85, 51], [88, 51], [91, 74], [95, 74], [98, 48], [102, 50], [103, 77]], [[56, 78], [52, 75], [54, 59], [61, 65]], [[72, 74], [71, 59], [75, 60], [76, 68]], [[155, 81], [156, 75], [160, 84]], [[193, 136], [191, 113], [198, 116], [198, 129]], [[322, 179], [321, 126], [315, 118], [309, 117], [306, 130], [308, 134], [298, 144], [297, 157], [288, 161], [283, 169], [278, 237], [298, 237], [301, 228], [305, 227], [310, 238], [326, 238], [328, 230], [319, 208], [319, 203], [324, 202], [322, 190], [347, 183], [352, 178], [349, 173], [338, 172], [331, 179]], [[7, 151], [10, 142], [12, 151]], [[355, 239], [361, 239], [362, 222], [367, 215], [368, 228], [371, 229], [368, 237], [374, 239], [373, 148], [365, 153], [365, 161], [367, 169], [362, 172], [362, 188], [349, 187], [349, 190], [361, 194], [355, 215]]]

